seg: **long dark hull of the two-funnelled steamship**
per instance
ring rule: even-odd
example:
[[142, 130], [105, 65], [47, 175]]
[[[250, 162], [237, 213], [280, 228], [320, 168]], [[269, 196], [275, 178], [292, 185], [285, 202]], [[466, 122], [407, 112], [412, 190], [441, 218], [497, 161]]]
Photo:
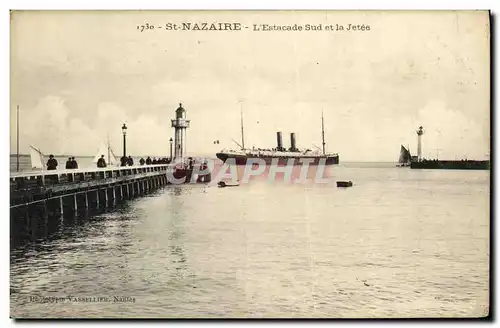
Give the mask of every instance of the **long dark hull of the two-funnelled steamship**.
[[[271, 165], [277, 162], [278, 165], [287, 165], [288, 161], [293, 159], [293, 165], [302, 165], [304, 161], [310, 162], [309, 165], [338, 165], [339, 164], [339, 156], [301, 156], [301, 157], [273, 157], [273, 156], [246, 156], [246, 155], [237, 155], [237, 154], [226, 154], [226, 153], [217, 153], [217, 158], [223, 162], [226, 162], [228, 159], [234, 161], [236, 165], [246, 165], [247, 162], [251, 159], [252, 161], [264, 160], [266, 165]], [[312, 161], [311, 161], [312, 160]]]

